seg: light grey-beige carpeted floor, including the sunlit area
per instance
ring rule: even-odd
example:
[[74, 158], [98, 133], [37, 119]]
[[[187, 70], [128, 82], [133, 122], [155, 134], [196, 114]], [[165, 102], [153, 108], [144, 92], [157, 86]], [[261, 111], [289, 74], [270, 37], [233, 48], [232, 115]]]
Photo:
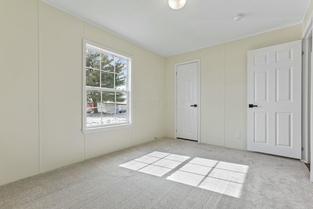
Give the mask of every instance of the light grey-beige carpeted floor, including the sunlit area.
[[309, 209], [313, 184], [299, 160], [157, 139], [1, 186], [12, 208]]

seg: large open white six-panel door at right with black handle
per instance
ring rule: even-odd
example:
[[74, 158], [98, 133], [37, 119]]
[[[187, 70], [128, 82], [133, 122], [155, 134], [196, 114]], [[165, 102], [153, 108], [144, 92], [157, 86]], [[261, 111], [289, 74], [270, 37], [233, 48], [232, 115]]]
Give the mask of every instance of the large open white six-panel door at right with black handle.
[[301, 159], [301, 52], [301, 40], [247, 52], [248, 150]]

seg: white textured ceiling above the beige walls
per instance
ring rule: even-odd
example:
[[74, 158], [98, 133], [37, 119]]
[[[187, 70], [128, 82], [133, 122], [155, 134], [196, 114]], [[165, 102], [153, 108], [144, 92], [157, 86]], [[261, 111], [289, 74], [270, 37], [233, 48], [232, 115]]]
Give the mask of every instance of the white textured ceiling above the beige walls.
[[[310, 0], [42, 0], [164, 57], [301, 23]], [[243, 13], [235, 22], [232, 17]]]

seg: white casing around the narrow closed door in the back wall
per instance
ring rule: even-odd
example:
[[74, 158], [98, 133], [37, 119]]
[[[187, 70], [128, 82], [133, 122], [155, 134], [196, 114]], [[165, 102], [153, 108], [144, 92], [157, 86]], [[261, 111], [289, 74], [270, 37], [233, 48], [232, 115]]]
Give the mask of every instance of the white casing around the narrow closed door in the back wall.
[[175, 63], [174, 65], [174, 139], [177, 139], [176, 130], [177, 130], [177, 66], [186, 65], [190, 63], [198, 63], [198, 142], [201, 142], [200, 130], [201, 130], [201, 62], [200, 59], [189, 60], [184, 62]]

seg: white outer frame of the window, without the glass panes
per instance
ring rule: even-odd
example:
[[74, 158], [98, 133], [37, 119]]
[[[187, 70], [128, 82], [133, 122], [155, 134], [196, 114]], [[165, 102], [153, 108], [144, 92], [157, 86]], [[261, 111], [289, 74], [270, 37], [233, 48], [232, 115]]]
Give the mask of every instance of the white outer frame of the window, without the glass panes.
[[[103, 53], [111, 54], [116, 57], [120, 57], [128, 61], [128, 72], [127, 72], [127, 90], [128, 90], [128, 97], [127, 97], [127, 122], [126, 123], [112, 123], [110, 125], [101, 125], [97, 127], [87, 126], [87, 89], [86, 89], [86, 48], [93, 48], [97, 51], [101, 51]], [[133, 108], [132, 108], [132, 67], [133, 67], [133, 57], [131, 55], [125, 54], [123, 52], [114, 50], [112, 48], [102, 46], [86, 39], [83, 39], [83, 128], [82, 132], [84, 134], [95, 133], [100, 131], [108, 131], [120, 128], [130, 128], [133, 127]], [[94, 90], [100, 90], [101, 88], [95, 87]], [[113, 90], [113, 89], [112, 89]]]

